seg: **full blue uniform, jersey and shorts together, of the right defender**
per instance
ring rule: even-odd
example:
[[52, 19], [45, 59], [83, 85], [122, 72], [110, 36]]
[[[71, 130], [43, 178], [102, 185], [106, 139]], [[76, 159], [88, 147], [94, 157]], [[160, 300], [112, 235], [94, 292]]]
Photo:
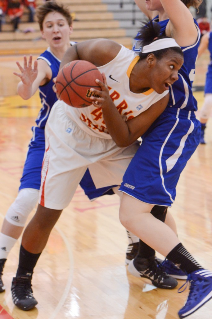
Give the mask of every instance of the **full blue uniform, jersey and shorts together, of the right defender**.
[[[158, 22], [158, 17], [154, 21]], [[165, 33], [168, 21], [158, 22], [161, 34]], [[192, 94], [200, 40], [200, 30], [194, 22], [198, 36], [193, 45], [181, 47], [184, 63], [178, 71], [179, 79], [169, 89], [168, 106], [142, 136], [120, 187], [122, 192], [145, 203], [174, 203], [180, 174], [200, 141], [201, 125], [195, 116], [197, 101]], [[140, 52], [139, 41], [135, 40], [133, 50]]]

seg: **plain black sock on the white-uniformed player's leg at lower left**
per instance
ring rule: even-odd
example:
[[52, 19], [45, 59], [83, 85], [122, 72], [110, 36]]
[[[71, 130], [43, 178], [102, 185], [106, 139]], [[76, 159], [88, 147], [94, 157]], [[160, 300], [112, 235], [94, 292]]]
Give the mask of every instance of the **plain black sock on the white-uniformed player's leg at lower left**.
[[16, 277], [21, 275], [32, 277], [33, 270], [38, 261], [38, 258], [40, 257], [40, 254], [41, 253], [32, 254], [24, 249], [24, 247], [21, 245]]

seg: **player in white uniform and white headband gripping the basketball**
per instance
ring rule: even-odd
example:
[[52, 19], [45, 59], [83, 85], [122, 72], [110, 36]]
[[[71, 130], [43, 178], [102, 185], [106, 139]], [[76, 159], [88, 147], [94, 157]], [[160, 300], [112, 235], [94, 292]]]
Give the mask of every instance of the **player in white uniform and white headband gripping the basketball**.
[[[154, 32], [154, 38], [158, 34]], [[45, 126], [46, 152], [38, 209], [24, 231], [19, 266], [11, 287], [13, 302], [18, 308], [29, 310], [37, 304], [31, 290], [34, 267], [51, 229], [72, 199], [87, 167], [96, 187], [120, 185], [138, 149], [137, 138], [166, 108], [168, 88], [178, 78], [183, 54], [174, 39], [159, 38], [152, 43], [146, 58], [107, 39], [83, 41], [67, 49], [61, 67], [69, 61], [82, 59], [97, 65], [106, 76], [110, 87], [106, 113], [114, 119], [117, 113], [121, 114], [123, 123], [132, 133], [131, 140], [126, 147], [116, 145], [97, 104], [87, 108], [72, 108], [60, 100], [54, 104]], [[116, 74], [116, 81], [110, 78], [111, 70]], [[140, 125], [136, 131], [134, 123]], [[54, 160], [59, 160], [61, 165], [54, 165]]]

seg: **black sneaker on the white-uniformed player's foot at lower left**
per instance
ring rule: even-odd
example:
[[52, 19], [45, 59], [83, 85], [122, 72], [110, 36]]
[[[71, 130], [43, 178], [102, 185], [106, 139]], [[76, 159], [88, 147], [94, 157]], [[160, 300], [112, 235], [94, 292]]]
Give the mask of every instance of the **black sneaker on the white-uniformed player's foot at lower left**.
[[38, 303], [32, 295], [31, 286], [31, 277], [18, 276], [12, 280], [12, 301], [21, 310], [30, 310]]

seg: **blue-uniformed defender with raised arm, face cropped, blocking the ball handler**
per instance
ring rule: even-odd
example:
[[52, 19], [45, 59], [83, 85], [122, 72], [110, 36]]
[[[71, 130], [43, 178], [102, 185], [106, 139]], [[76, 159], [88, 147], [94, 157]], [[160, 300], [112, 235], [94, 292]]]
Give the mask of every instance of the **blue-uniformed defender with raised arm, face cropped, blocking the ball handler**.
[[[212, 298], [212, 273], [195, 261], [175, 232], [164, 223], [166, 208], [175, 199], [180, 174], [200, 141], [201, 125], [195, 118], [197, 102], [192, 94], [200, 30], [188, 7], [198, 8], [201, 1], [137, 0], [136, 3], [141, 9], [142, 4], [146, 4], [144, 11], [159, 12], [154, 20], [161, 25], [161, 33], [172, 36], [181, 46], [184, 63], [179, 79], [170, 85], [166, 110], [142, 136], [142, 143], [123, 176], [120, 221], [143, 241], [138, 256], [129, 263], [131, 273], [148, 278], [157, 250], [167, 257], [171, 267], [178, 264], [180, 271], [188, 275], [188, 299], [178, 313], [184, 318]], [[142, 33], [138, 35], [134, 50], [144, 52], [144, 39]], [[110, 123], [106, 125], [109, 127]], [[115, 130], [112, 134], [115, 139], [114, 134]], [[126, 138], [122, 136], [123, 140]], [[153, 207], [155, 211], [150, 213]]]

